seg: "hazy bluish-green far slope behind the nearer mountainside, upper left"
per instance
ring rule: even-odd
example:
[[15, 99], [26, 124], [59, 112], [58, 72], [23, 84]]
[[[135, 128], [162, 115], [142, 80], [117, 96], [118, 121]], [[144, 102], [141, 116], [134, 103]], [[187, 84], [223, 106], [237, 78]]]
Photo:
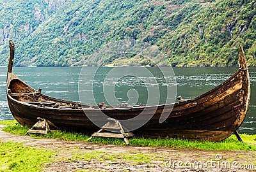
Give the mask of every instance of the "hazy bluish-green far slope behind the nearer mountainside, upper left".
[[[0, 65], [6, 64], [8, 40], [22, 43], [38, 27], [60, 10], [66, 0], [0, 1]], [[64, 10], [64, 9], [62, 9]]]

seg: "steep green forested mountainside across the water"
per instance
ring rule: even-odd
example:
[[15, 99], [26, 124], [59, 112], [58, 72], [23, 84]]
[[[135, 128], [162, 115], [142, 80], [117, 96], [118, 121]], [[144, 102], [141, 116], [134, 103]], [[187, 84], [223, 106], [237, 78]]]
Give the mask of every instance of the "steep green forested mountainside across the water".
[[[242, 44], [248, 64], [256, 66], [255, 0], [0, 0], [0, 4], [1, 66], [7, 64], [8, 39], [17, 45], [15, 66], [99, 66], [102, 59], [90, 55], [125, 39], [157, 46], [172, 66], [237, 66]], [[116, 55], [104, 62], [148, 63], [138, 55]]]

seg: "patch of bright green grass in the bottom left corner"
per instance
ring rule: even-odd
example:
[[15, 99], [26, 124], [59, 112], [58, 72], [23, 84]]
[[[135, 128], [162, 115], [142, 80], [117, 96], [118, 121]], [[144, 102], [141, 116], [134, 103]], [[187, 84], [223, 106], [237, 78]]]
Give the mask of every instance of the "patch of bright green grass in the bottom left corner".
[[0, 142], [0, 171], [41, 171], [52, 162], [50, 150], [24, 147], [22, 143]]

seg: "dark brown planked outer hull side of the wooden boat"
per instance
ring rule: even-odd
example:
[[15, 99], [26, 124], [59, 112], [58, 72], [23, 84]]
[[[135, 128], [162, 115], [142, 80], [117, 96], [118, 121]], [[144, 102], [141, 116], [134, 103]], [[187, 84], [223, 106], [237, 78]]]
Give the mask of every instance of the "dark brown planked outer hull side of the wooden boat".
[[[93, 124], [87, 115], [100, 118], [100, 115], [104, 113], [111, 118], [126, 120], [140, 115], [143, 111], [143, 115], [146, 116], [154, 114], [145, 125], [133, 131], [138, 136], [221, 141], [233, 134], [242, 124], [250, 99], [250, 97], [244, 96], [250, 92], [249, 86], [248, 71], [239, 69], [219, 87], [195, 99], [175, 104], [147, 108], [136, 107], [127, 110], [118, 110], [117, 108], [50, 109], [17, 101], [12, 96], [8, 96], [8, 104], [13, 117], [21, 125], [28, 127], [37, 122], [37, 117], [41, 117], [64, 130], [81, 130], [92, 133], [99, 127]], [[56, 99], [48, 98], [47, 100]], [[170, 107], [168, 108], [168, 106]], [[167, 113], [168, 118], [160, 123], [159, 118], [163, 113]], [[141, 116], [141, 121], [143, 118]], [[102, 124], [107, 122], [102, 121]]]

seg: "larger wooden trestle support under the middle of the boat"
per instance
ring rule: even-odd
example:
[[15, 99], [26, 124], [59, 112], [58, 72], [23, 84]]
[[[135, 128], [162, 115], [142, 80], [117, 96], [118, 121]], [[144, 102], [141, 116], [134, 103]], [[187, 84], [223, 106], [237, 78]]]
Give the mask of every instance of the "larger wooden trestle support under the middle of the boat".
[[[108, 118], [108, 120], [109, 122], [107, 122], [99, 131], [93, 133], [92, 136], [88, 138], [88, 140], [90, 140], [93, 136], [103, 138], [124, 138], [126, 145], [129, 145], [130, 143], [128, 138], [134, 136], [134, 134], [131, 132], [125, 133], [124, 127], [118, 120], [114, 118]], [[115, 131], [115, 133], [108, 131], [108, 129]]]

